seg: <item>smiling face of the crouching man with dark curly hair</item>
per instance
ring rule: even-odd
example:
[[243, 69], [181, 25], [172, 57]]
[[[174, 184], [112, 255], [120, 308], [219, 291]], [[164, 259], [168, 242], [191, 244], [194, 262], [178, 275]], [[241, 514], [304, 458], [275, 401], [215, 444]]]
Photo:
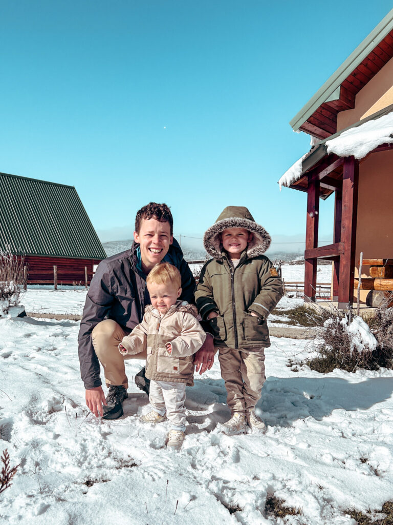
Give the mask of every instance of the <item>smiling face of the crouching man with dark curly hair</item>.
[[134, 240], [139, 243], [142, 268], [148, 274], [167, 255], [173, 237], [168, 221], [151, 218], [141, 219], [139, 233], [134, 232]]

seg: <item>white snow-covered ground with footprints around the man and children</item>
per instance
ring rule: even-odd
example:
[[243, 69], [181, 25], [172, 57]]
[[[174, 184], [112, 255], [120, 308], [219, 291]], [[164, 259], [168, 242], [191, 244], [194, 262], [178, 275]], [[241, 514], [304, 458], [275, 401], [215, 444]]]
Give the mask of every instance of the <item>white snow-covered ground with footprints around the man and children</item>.
[[[62, 306], [54, 306], [70, 312], [76, 295], [58, 292]], [[29, 296], [36, 304], [43, 297]], [[302, 509], [287, 523], [349, 525], [345, 509], [380, 509], [391, 499], [392, 371], [294, 372], [288, 360], [310, 343], [272, 338], [258, 403], [266, 434], [220, 433], [229, 413], [215, 362], [188, 388], [177, 452], [165, 447], [167, 423], [139, 421], [148, 408], [132, 386], [141, 362], [126, 364], [124, 416], [89, 414], [77, 334], [75, 321], [0, 319], [0, 453], [7, 448], [11, 465], [21, 464], [0, 495], [2, 525], [282, 523], [265, 513], [273, 493]]]

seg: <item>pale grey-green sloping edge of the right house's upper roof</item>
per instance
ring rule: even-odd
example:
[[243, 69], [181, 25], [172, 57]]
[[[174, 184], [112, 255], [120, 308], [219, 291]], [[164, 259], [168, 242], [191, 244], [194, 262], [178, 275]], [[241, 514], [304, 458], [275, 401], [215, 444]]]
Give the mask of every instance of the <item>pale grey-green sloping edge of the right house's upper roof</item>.
[[341, 85], [348, 75], [362, 62], [362, 60], [379, 44], [393, 29], [393, 9], [379, 22], [371, 33], [351, 53], [351, 55], [337, 68], [333, 75], [323, 84], [313, 97], [289, 122], [293, 131], [300, 126], [318, 109], [323, 102]]

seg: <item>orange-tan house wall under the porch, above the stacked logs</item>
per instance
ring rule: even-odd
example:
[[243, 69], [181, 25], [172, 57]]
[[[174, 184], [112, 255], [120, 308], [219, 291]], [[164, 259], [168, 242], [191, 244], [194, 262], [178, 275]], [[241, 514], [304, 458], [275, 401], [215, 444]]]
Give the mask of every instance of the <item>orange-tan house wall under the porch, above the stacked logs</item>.
[[[393, 151], [368, 155], [359, 165], [355, 277], [363, 258], [393, 258]], [[362, 277], [369, 277], [369, 268]], [[368, 290], [361, 290], [366, 301]], [[354, 293], [357, 297], [357, 291]]]

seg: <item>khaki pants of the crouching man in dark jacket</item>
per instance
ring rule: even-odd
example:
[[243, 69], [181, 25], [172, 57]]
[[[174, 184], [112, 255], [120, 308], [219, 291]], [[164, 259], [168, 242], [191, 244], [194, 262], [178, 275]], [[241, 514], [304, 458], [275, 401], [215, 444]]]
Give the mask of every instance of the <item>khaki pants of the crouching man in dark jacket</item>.
[[97, 358], [104, 367], [105, 383], [109, 385], [123, 385], [128, 387], [124, 360], [146, 359], [146, 350], [135, 355], [122, 355], [118, 345], [125, 335], [123, 328], [112, 319], [105, 319], [96, 324], [92, 331], [92, 341]]

